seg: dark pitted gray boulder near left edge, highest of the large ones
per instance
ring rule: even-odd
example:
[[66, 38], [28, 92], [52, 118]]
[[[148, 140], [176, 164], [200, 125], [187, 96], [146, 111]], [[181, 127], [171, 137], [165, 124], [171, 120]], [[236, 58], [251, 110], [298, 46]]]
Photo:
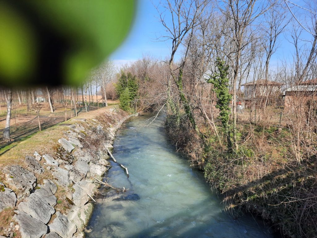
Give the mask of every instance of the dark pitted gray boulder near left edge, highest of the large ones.
[[23, 198], [29, 195], [30, 191], [36, 185], [36, 177], [30, 171], [21, 168], [18, 165], [11, 165], [3, 169], [6, 177], [6, 182], [15, 191], [19, 191], [17, 198]]

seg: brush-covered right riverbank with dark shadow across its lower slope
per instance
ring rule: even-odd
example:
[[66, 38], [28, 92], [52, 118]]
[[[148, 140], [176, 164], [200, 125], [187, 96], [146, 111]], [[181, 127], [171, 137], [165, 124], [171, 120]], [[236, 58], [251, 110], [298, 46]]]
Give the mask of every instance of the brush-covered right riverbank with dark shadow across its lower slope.
[[[226, 208], [261, 215], [285, 236], [316, 237], [316, 155], [307, 153], [297, 161], [288, 128], [240, 123], [239, 149], [229, 153], [222, 135], [219, 140], [200, 123], [208, 136], [197, 136], [180, 118], [166, 120], [171, 141], [204, 170]], [[222, 134], [220, 125], [217, 129]]]

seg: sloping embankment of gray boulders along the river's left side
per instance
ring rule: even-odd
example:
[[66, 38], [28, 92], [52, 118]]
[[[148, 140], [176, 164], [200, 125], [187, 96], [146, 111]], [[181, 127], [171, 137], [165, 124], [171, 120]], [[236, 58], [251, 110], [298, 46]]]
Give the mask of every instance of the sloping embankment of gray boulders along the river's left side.
[[0, 213], [14, 214], [9, 225], [0, 224], [1, 238], [83, 237], [99, 185], [95, 178], [107, 171], [107, 149], [129, 117], [115, 107], [94, 114], [59, 125], [65, 130], [54, 153], [40, 155], [34, 148], [23, 163], [1, 168]]

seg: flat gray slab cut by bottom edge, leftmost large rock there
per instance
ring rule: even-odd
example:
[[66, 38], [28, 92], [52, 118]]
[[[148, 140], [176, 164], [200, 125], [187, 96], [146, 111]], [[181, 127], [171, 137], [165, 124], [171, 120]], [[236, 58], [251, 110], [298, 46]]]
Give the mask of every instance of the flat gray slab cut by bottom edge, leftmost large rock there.
[[40, 238], [47, 233], [48, 226], [22, 211], [16, 211], [15, 219], [20, 226], [22, 238]]

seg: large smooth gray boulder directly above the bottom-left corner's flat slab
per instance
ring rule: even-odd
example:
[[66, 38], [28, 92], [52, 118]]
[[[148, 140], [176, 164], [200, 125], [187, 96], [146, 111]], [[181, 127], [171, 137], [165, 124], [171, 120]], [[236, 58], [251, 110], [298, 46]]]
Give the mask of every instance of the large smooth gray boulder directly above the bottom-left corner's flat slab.
[[35, 193], [29, 195], [24, 202], [20, 202], [18, 209], [45, 224], [49, 222], [51, 216], [55, 213], [55, 209], [44, 198]]

